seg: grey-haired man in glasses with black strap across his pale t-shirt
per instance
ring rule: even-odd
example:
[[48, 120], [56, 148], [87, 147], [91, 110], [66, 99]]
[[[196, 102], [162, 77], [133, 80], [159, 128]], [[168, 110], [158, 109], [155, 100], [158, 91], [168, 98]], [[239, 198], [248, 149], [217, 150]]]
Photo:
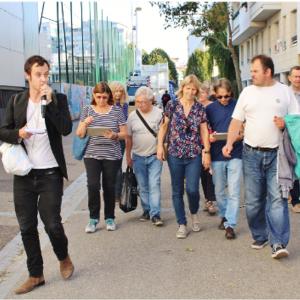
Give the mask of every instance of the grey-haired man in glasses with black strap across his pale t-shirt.
[[[135, 94], [136, 111], [127, 120], [126, 159], [133, 165], [139, 187], [143, 214], [141, 221], [151, 219], [162, 226], [160, 217], [160, 176], [162, 162], [156, 157], [157, 132], [162, 110], [152, 105], [154, 94], [148, 87], [140, 87]], [[147, 128], [148, 127], [148, 128]]]

